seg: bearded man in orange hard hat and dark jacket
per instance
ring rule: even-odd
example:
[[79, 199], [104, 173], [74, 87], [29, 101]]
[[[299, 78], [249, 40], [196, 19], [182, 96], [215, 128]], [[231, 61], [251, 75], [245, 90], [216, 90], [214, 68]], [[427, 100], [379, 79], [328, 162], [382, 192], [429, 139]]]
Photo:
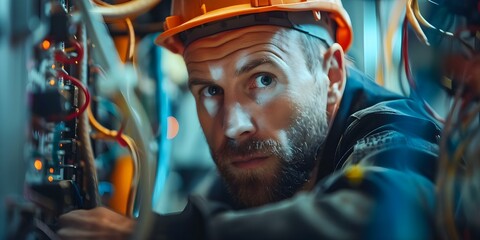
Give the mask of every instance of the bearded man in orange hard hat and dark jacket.
[[[160, 239], [428, 239], [438, 126], [346, 67], [339, 0], [174, 1], [157, 43], [182, 54], [222, 181]], [[64, 238], [120, 238], [106, 208], [60, 218]]]

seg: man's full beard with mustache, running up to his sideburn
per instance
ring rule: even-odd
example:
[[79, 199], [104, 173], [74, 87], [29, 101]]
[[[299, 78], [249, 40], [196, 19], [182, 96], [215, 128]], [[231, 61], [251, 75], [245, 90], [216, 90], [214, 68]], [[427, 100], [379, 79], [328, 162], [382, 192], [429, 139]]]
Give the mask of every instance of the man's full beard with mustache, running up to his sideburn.
[[[322, 104], [323, 105], [323, 104]], [[328, 123], [325, 108], [312, 101], [297, 108], [297, 117], [286, 130], [286, 141], [251, 138], [242, 143], [227, 140], [212, 153], [226, 187], [238, 207], [255, 207], [292, 197], [308, 181], [316, 156], [325, 141]], [[255, 169], [238, 169], [229, 162], [234, 156], [261, 153], [271, 156]], [[273, 160], [273, 161], [272, 161]]]

